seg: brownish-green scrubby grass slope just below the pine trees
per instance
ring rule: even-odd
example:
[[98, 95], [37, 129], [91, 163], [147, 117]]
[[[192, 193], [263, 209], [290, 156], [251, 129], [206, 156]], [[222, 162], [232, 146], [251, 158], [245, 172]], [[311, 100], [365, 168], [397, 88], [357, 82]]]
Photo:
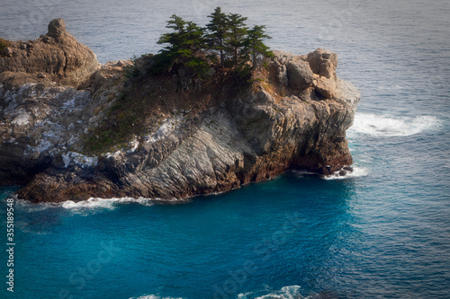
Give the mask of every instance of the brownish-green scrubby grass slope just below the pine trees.
[[123, 148], [132, 136], [154, 133], [164, 119], [180, 111], [184, 111], [184, 119], [194, 119], [202, 111], [234, 99], [239, 90], [234, 80], [231, 75], [223, 77], [218, 72], [200, 91], [186, 92], [180, 91], [173, 75], [140, 78], [116, 100], [106, 119], [85, 140], [85, 153], [100, 154]]

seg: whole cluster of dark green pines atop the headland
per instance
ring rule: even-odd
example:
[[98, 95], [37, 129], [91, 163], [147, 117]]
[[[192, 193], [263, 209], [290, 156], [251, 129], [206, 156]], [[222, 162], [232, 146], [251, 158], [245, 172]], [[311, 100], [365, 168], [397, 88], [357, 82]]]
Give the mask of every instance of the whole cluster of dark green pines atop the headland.
[[[270, 57], [272, 52], [264, 40], [266, 26], [247, 27], [247, 17], [238, 13], [222, 13], [216, 7], [209, 16], [210, 22], [204, 28], [194, 22], [184, 21], [172, 15], [157, 44], [166, 47], [155, 56], [154, 73], [174, 72], [184, 66], [195, 77], [202, 78], [211, 67], [231, 68], [250, 66], [255, 68], [260, 57]], [[214, 58], [219, 56], [219, 65]], [[217, 59], [216, 59], [217, 61]]]

